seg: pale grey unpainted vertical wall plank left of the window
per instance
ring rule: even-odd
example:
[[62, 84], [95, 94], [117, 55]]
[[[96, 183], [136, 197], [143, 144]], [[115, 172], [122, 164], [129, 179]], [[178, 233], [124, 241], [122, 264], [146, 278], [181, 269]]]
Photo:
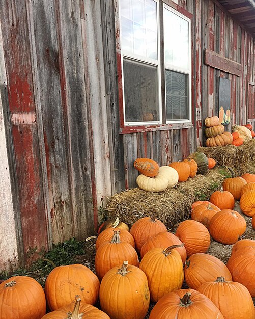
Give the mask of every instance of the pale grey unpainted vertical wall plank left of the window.
[[84, 6], [81, 6], [81, 25], [87, 107], [91, 118], [90, 134], [93, 134], [96, 201], [97, 205], [100, 205], [105, 196], [111, 195], [103, 40], [102, 29], [98, 28], [101, 5], [99, 0], [84, 1], [82, 4]]

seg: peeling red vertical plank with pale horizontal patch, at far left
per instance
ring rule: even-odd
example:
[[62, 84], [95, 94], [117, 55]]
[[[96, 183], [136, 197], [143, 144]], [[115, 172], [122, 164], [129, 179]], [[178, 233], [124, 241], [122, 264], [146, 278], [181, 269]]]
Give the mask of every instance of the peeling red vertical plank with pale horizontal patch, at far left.
[[[5, 14], [1, 17], [9, 105], [12, 119], [23, 118], [24, 123], [13, 120], [12, 134], [19, 185], [20, 214], [23, 245], [47, 249], [47, 228], [41, 182], [41, 163], [38, 147], [35, 101], [30, 59], [25, 1], [2, 2]], [[22, 45], [20, 45], [22, 43]], [[10, 55], [12, 52], [12, 55]]]

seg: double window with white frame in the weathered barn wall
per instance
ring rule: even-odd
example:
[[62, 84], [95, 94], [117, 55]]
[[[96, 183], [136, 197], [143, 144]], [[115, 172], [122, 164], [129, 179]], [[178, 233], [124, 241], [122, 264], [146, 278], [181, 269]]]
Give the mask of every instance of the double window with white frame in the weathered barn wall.
[[161, 0], [119, 2], [123, 126], [191, 123], [191, 14]]

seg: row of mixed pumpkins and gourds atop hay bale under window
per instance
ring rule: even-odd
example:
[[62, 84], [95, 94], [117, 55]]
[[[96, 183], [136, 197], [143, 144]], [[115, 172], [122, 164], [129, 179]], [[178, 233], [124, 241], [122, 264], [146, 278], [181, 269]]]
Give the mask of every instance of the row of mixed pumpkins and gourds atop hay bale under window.
[[178, 182], [184, 182], [189, 177], [205, 174], [215, 165], [215, 159], [207, 158], [202, 152], [192, 153], [184, 161], [161, 167], [150, 158], [137, 158], [134, 161], [135, 169], [141, 173], [137, 176], [136, 183], [140, 189], [147, 192], [161, 192], [173, 188]]

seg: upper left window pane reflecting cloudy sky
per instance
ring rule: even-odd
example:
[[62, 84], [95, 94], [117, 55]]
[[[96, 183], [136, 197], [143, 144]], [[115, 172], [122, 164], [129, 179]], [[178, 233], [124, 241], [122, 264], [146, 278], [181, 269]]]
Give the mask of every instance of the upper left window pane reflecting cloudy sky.
[[131, 54], [158, 59], [157, 3], [121, 0], [121, 44]]

